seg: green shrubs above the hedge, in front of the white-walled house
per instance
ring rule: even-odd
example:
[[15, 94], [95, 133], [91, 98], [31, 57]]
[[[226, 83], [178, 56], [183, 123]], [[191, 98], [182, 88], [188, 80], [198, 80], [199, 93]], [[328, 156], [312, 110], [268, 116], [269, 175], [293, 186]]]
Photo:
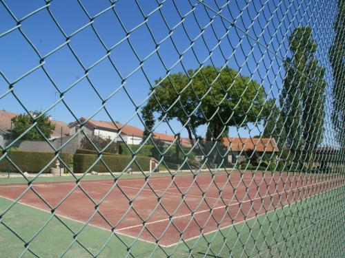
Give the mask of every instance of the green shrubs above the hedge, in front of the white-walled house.
[[[114, 142], [110, 138], [101, 138], [101, 137], [95, 136], [95, 135], [92, 135], [89, 138], [90, 138], [91, 142], [93, 144], [95, 144], [95, 146], [99, 150], [107, 147], [106, 152], [108, 152], [108, 153], [117, 153], [117, 154], [122, 153], [121, 144], [119, 142]], [[84, 137], [81, 140], [81, 148], [96, 151], [95, 147], [92, 145], [91, 142], [88, 140], [88, 138]], [[110, 144], [110, 145], [108, 146], [108, 144]]]

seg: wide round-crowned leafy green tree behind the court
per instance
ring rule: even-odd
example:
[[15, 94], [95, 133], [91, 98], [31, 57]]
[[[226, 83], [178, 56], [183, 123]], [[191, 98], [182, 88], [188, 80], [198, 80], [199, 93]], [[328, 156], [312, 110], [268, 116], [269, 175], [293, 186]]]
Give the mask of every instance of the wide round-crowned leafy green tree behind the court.
[[229, 126], [262, 119], [263, 87], [230, 67], [190, 69], [155, 83], [141, 111], [146, 136], [155, 125], [155, 114], [158, 120], [179, 120], [191, 142], [199, 137], [195, 132], [200, 125], [208, 125], [207, 140], [219, 141], [228, 136]]

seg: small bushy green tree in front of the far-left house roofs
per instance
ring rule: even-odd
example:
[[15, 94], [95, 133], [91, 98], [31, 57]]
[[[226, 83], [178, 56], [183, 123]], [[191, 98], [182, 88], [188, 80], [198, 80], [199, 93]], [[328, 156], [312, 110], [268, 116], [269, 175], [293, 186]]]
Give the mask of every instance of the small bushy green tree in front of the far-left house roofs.
[[42, 115], [41, 111], [33, 111], [31, 112], [31, 116], [28, 114], [20, 114], [18, 116], [14, 116], [11, 119], [12, 125], [12, 136], [13, 138], [17, 138], [26, 131], [29, 127], [31, 127], [34, 122], [37, 122], [37, 126], [33, 127], [28, 131], [21, 140], [43, 140], [44, 137], [39, 133], [37, 127], [41, 130], [43, 135], [46, 138], [50, 138], [52, 131], [55, 129], [55, 125], [50, 121], [46, 114]]

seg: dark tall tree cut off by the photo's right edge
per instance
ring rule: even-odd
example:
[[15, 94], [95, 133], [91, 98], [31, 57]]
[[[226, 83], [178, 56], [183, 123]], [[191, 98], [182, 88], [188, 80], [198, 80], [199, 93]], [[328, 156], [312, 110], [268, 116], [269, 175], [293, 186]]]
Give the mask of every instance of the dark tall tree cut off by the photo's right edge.
[[345, 1], [338, 0], [338, 13], [334, 28], [333, 44], [329, 50], [329, 61], [333, 68], [332, 122], [341, 147], [345, 147]]

